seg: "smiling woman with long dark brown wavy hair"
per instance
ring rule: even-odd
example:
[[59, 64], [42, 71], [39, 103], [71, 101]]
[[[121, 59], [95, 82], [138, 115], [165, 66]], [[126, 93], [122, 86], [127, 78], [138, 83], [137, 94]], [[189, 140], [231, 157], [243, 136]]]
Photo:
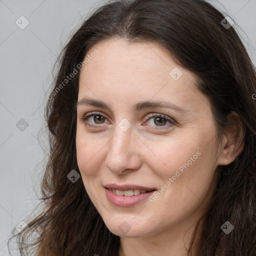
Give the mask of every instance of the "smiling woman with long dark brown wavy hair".
[[256, 74], [232, 25], [203, 0], [117, 0], [80, 26], [20, 252], [255, 254]]

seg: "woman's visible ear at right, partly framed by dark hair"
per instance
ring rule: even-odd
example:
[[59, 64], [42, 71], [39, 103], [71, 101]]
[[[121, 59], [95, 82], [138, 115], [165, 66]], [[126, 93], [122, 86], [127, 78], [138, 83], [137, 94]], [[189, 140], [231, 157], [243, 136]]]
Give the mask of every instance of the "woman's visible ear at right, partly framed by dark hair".
[[[226, 128], [218, 156], [218, 165], [231, 163], [243, 150], [245, 141], [243, 139], [243, 125], [239, 115], [231, 111], [228, 114], [230, 126]], [[242, 143], [241, 143], [242, 142]]]

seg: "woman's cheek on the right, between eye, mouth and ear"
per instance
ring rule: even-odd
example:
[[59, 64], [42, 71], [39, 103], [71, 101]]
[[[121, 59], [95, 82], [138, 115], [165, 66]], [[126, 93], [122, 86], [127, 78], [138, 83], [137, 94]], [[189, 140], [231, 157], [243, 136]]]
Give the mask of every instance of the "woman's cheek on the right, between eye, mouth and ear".
[[203, 136], [193, 134], [192, 137], [158, 141], [152, 147], [157, 157], [147, 156], [147, 163], [162, 180], [159, 185], [168, 187], [166, 194], [171, 193], [173, 200], [180, 201], [182, 198], [188, 203], [192, 198], [204, 197], [216, 168], [214, 140], [205, 147]]

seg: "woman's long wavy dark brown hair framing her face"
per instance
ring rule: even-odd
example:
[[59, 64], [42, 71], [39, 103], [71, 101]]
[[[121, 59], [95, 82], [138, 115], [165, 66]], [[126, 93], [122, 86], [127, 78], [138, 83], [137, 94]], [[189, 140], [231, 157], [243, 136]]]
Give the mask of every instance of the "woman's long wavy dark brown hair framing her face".
[[[82, 179], [72, 183], [67, 178], [72, 169], [79, 173], [74, 107], [79, 72], [63, 85], [88, 49], [109, 38], [157, 42], [177, 64], [197, 74], [198, 88], [210, 99], [219, 138], [231, 125], [227, 115], [238, 113], [245, 145], [233, 162], [219, 166], [212, 200], [198, 220], [203, 218], [198, 256], [255, 255], [256, 73], [234, 27], [223, 25], [224, 17], [203, 0], [115, 0], [97, 8], [74, 32], [57, 59], [55, 93], [45, 108], [50, 154], [41, 183], [43, 210], [27, 221], [24, 233], [15, 235], [22, 255], [118, 256], [120, 237], [105, 226]], [[229, 234], [220, 228], [226, 220], [234, 226]]]

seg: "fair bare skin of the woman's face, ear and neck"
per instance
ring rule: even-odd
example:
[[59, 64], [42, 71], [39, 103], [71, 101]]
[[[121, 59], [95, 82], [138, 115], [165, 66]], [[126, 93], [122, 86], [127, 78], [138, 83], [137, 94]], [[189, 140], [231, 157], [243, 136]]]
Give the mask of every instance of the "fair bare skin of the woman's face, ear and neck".
[[[196, 88], [195, 74], [177, 65], [156, 43], [108, 39], [93, 45], [87, 54], [95, 48], [99, 52], [80, 70], [78, 101], [85, 96], [102, 100], [112, 111], [77, 107], [77, 163], [86, 192], [107, 228], [120, 236], [119, 255], [158, 256], [170, 251], [172, 256], [186, 255], [195, 221], [214, 191], [217, 166], [232, 162], [243, 148], [237, 151], [233, 142], [241, 132], [233, 126], [217, 143], [210, 102]], [[182, 71], [178, 80], [169, 75], [174, 67]], [[188, 111], [131, 110], [143, 100], [165, 100]], [[84, 121], [90, 111], [105, 118], [90, 116]], [[155, 123], [157, 116], [150, 113], [164, 114], [175, 122]], [[126, 131], [118, 126], [123, 118], [131, 124]], [[197, 151], [200, 156], [183, 173], [179, 171], [180, 176], [153, 202], [145, 199], [120, 207], [106, 198], [103, 185], [107, 183], [161, 189]], [[130, 228], [126, 233], [119, 229], [123, 221]]]

